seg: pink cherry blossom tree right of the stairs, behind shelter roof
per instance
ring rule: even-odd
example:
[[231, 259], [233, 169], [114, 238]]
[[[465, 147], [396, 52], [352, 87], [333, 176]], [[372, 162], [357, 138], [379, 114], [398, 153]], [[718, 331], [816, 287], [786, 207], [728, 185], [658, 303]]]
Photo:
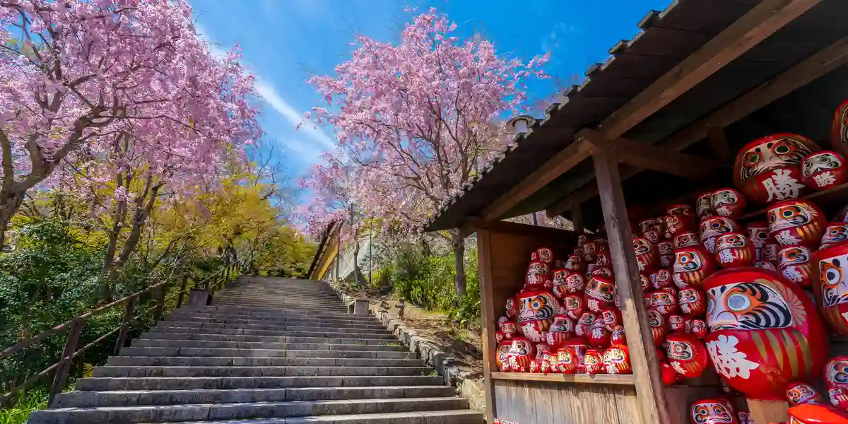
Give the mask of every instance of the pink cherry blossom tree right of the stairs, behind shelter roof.
[[[505, 148], [503, 120], [526, 100], [527, 78], [545, 78], [548, 55], [528, 63], [499, 56], [483, 36], [460, 41], [456, 25], [435, 9], [405, 25], [399, 43], [357, 39], [335, 75], [308, 82], [326, 107], [306, 118], [332, 126], [339, 151], [355, 165], [350, 195], [363, 212], [415, 232], [444, 199]], [[338, 175], [321, 165], [324, 181]], [[464, 240], [449, 239], [456, 291], [466, 292]]]

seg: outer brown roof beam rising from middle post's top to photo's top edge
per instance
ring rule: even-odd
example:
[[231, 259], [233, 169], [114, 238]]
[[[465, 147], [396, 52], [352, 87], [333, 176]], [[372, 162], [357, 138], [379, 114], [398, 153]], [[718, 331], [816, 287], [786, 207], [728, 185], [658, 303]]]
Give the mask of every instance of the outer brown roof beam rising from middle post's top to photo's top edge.
[[639, 92], [598, 126], [607, 140], [621, 137], [700, 81], [722, 69], [821, 0], [763, 0], [698, 51]]

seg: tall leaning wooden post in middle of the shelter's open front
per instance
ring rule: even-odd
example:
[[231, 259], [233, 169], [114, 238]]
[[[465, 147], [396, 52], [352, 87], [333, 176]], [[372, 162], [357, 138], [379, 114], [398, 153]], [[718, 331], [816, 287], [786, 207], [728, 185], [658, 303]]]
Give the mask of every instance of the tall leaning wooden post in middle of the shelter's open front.
[[594, 173], [598, 180], [606, 238], [610, 243], [613, 269], [616, 272], [616, 290], [621, 301], [624, 332], [628, 336], [641, 421], [643, 424], [668, 424], [671, 417], [663, 393], [660, 362], [656, 357], [654, 338], [648, 324], [648, 310], [642, 298], [639, 266], [636, 254], [633, 253], [633, 234], [630, 232], [627, 206], [624, 203], [618, 159], [603, 140], [593, 142], [598, 142], [593, 153]]

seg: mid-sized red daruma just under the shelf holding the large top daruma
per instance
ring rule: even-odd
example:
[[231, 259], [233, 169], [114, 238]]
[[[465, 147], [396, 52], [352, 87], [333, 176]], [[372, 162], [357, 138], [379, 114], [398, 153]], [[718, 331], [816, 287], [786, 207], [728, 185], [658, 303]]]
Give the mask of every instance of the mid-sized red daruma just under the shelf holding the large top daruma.
[[768, 208], [768, 232], [781, 246], [803, 244], [817, 247], [827, 220], [822, 209], [804, 199], [792, 199]]

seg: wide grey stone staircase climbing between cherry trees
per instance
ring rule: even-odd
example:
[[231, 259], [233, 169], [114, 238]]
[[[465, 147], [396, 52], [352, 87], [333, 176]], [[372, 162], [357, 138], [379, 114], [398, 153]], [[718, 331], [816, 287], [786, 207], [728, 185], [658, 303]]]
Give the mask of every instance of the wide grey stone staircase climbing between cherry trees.
[[483, 423], [324, 282], [243, 278], [181, 308], [29, 424]]

